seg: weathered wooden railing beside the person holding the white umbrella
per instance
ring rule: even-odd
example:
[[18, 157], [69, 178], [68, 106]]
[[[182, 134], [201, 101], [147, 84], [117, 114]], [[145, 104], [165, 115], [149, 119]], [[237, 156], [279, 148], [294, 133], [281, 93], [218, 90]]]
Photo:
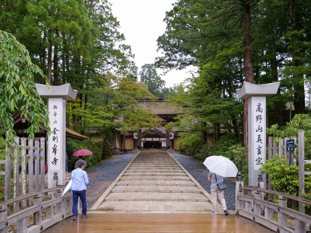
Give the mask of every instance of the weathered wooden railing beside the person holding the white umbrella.
[[[243, 187], [241, 173], [238, 173], [235, 190], [236, 214], [252, 219], [276, 232], [304, 233], [306, 224], [311, 225], [311, 216], [287, 207], [287, 200], [299, 202], [299, 205], [311, 205], [311, 200], [296, 197], [273, 190], [263, 189], [259, 177], [257, 187]], [[248, 194], [244, 194], [244, 190]], [[264, 200], [264, 194], [278, 196], [278, 204]], [[273, 210], [278, 211], [277, 221], [273, 220]], [[295, 219], [295, 229], [287, 226], [288, 216]]]

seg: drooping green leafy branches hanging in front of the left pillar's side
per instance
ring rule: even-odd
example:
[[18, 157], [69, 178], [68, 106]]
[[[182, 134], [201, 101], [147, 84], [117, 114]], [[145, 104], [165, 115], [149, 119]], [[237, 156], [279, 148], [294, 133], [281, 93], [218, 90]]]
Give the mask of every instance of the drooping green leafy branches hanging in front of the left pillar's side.
[[0, 143], [6, 131], [7, 138], [13, 140], [12, 114], [18, 110], [21, 117], [29, 118], [26, 131], [30, 138], [39, 131], [40, 122], [49, 129], [48, 109], [36, 90], [35, 74], [46, 80], [40, 68], [31, 62], [25, 46], [12, 34], [0, 30]]

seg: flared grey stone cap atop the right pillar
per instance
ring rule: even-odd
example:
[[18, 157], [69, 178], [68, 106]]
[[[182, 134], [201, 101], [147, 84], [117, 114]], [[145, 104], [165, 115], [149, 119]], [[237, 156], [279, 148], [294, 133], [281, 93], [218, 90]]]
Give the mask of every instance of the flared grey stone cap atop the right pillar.
[[265, 95], [270, 97], [275, 95], [280, 82], [268, 83], [268, 84], [252, 84], [249, 82], [244, 82], [240, 89], [236, 89], [239, 99], [247, 99], [252, 95]]

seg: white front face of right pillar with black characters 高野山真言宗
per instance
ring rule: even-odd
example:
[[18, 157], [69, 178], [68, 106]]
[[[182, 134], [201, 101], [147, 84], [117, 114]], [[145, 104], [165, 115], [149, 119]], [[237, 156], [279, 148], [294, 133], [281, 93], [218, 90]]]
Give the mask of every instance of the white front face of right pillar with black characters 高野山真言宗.
[[[253, 162], [254, 170], [258, 170], [266, 162], [266, 99], [253, 98], [252, 103]], [[249, 142], [252, 143], [252, 142]]]

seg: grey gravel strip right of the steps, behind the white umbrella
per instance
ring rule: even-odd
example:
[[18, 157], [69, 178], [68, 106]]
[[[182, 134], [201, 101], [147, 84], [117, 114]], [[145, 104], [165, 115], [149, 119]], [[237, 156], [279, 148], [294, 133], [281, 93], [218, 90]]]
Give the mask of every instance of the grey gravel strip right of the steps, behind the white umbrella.
[[[202, 162], [195, 158], [179, 153], [170, 153], [200, 185], [211, 194], [211, 183], [208, 181], [208, 170]], [[224, 182], [228, 186], [225, 190], [225, 200], [228, 210], [235, 210], [235, 185], [229, 178], [224, 178]], [[219, 200], [218, 200], [219, 202]], [[219, 202], [220, 203], [220, 202]]]

